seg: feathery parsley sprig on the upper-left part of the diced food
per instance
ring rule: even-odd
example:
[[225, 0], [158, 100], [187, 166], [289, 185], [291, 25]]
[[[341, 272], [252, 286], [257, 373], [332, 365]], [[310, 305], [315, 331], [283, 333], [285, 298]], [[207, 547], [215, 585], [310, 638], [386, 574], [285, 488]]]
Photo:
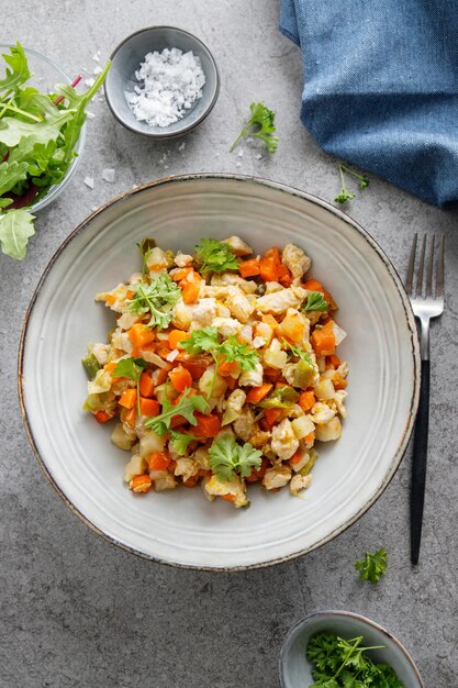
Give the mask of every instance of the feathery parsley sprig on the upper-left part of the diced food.
[[137, 315], [149, 312], [150, 319], [146, 326], [165, 330], [174, 317], [172, 308], [180, 298], [179, 286], [167, 273], [160, 273], [150, 285], [141, 281], [133, 285], [132, 290], [135, 295], [129, 299], [127, 310]]

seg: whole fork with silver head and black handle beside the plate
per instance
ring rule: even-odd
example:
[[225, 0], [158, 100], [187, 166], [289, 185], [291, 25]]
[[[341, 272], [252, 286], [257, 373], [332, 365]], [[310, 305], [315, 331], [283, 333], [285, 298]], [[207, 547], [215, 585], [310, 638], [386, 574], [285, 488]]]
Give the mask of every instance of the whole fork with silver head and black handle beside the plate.
[[[429, 321], [444, 312], [444, 237], [437, 251], [437, 269], [434, 279], [435, 235], [431, 244], [424, 284], [426, 236], [423, 236], [416, 280], [415, 257], [418, 235], [415, 234], [409, 259], [405, 289], [410, 296], [415, 318], [420, 320], [420, 352], [422, 356], [422, 380], [420, 386], [418, 412], [415, 421], [411, 485], [411, 562], [418, 563], [422, 540], [423, 506], [425, 501], [426, 459], [429, 422]], [[415, 281], [415, 284], [414, 284]]]

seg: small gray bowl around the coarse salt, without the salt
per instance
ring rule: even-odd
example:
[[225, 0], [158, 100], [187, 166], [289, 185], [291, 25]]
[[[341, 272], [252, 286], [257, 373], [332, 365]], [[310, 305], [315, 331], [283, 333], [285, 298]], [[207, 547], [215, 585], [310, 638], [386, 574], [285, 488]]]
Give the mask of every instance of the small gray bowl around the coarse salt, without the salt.
[[[183, 53], [192, 51], [200, 57], [205, 75], [202, 98], [196, 101], [193, 108], [185, 116], [169, 124], [169, 126], [152, 126], [146, 122], [138, 122], [125, 99], [125, 91], [133, 91], [138, 84], [135, 71], [145, 59], [145, 55], [153, 51], [159, 53], [164, 48], [177, 47]], [[107, 102], [121, 124], [137, 134], [150, 138], [175, 138], [188, 133], [202, 122], [213, 109], [220, 92], [220, 75], [216, 63], [209, 48], [199, 38], [174, 26], [149, 26], [131, 34], [114, 49], [111, 55], [111, 69], [105, 80]]]

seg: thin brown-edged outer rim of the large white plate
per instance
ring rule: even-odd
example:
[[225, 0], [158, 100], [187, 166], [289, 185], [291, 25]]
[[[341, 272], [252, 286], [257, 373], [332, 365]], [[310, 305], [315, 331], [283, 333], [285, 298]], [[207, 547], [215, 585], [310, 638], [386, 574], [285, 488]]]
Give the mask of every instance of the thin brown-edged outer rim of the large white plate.
[[[98, 525], [96, 525], [94, 523], [92, 523], [92, 521], [85, 515], [69, 499], [68, 497], [65, 495], [65, 492], [62, 490], [62, 488], [57, 485], [57, 482], [55, 481], [54, 477], [52, 476], [49, 469], [47, 468], [46, 462], [44, 459], [44, 457], [41, 456], [40, 452], [38, 452], [38, 447], [36, 445], [33, 432], [32, 432], [32, 425], [31, 422], [29, 420], [29, 415], [27, 415], [27, 411], [26, 411], [26, 406], [25, 406], [25, 392], [24, 392], [24, 388], [23, 388], [23, 365], [24, 365], [24, 352], [25, 352], [25, 340], [26, 340], [26, 335], [27, 335], [27, 326], [29, 326], [29, 321], [31, 319], [32, 312], [33, 312], [33, 308], [35, 306], [35, 302], [38, 298], [40, 291], [44, 285], [44, 282], [46, 281], [51, 270], [54, 267], [54, 264], [57, 262], [57, 259], [60, 257], [60, 255], [64, 253], [64, 251], [66, 251], [66, 248], [69, 246], [69, 244], [71, 243], [71, 241], [74, 238], [76, 238], [77, 236], [79, 236], [85, 230], [86, 228], [92, 222], [93, 218], [96, 218], [97, 215], [101, 214], [102, 212], [104, 212], [105, 210], [108, 210], [109, 208], [122, 202], [124, 199], [134, 196], [135, 193], [142, 193], [146, 190], [149, 190], [152, 188], [155, 187], [160, 187], [164, 185], [169, 185], [169, 184], [176, 184], [176, 182], [182, 182], [182, 181], [194, 181], [198, 179], [222, 179], [222, 180], [235, 180], [235, 181], [242, 181], [242, 182], [248, 182], [248, 184], [255, 184], [255, 185], [260, 185], [260, 186], [266, 186], [279, 191], [282, 191], [283, 193], [288, 193], [288, 196], [293, 196], [293, 197], [298, 197], [298, 198], [302, 198], [306, 201], [310, 201], [311, 203], [319, 206], [321, 208], [323, 208], [324, 210], [329, 211], [332, 214], [336, 215], [337, 218], [339, 218], [340, 220], [343, 220], [346, 224], [349, 224], [353, 229], [355, 229], [361, 236], [362, 238], [365, 238], [367, 241], [367, 243], [376, 251], [376, 253], [378, 254], [378, 256], [382, 259], [384, 266], [388, 269], [388, 273], [390, 275], [390, 277], [392, 278], [398, 293], [401, 298], [401, 302], [402, 306], [404, 308], [404, 315], [405, 315], [405, 320], [406, 320], [406, 324], [407, 324], [407, 330], [410, 331], [411, 334], [411, 347], [412, 347], [412, 357], [413, 357], [413, 367], [414, 367], [414, 375], [413, 375], [413, 395], [411, 398], [411, 404], [410, 404], [410, 411], [409, 411], [409, 417], [407, 417], [407, 422], [404, 426], [404, 432], [402, 434], [402, 437], [399, 442], [396, 452], [393, 456], [393, 460], [392, 460], [392, 466], [390, 471], [387, 474], [384, 480], [381, 482], [381, 485], [378, 487], [378, 489], [373, 492], [372, 497], [368, 500], [368, 502], [366, 502], [366, 504], [364, 504], [364, 507], [361, 507], [350, 519], [348, 519], [345, 523], [343, 523], [342, 525], [339, 525], [338, 528], [335, 528], [328, 535], [326, 535], [325, 537], [322, 537], [319, 542], [316, 542], [315, 544], [313, 544], [312, 546], [305, 547], [305, 548], [301, 548], [297, 552], [292, 552], [288, 555], [281, 556], [281, 557], [275, 557], [272, 559], [268, 559], [266, 562], [260, 562], [260, 563], [255, 563], [255, 564], [244, 564], [244, 565], [236, 565], [236, 566], [204, 566], [204, 565], [197, 565], [197, 564], [185, 564], [185, 563], [178, 563], [178, 562], [171, 562], [168, 559], [164, 559], [159, 556], [155, 556], [153, 554], [147, 554], [145, 552], [142, 552], [141, 550], [137, 550], [136, 547], [129, 545], [127, 543], [116, 539], [114, 535], [111, 535], [109, 533], [105, 533], [103, 530], [101, 530]], [[83, 220], [81, 220], [81, 222], [79, 222], [77, 224], [77, 226], [64, 238], [64, 241], [60, 243], [60, 245], [57, 247], [57, 249], [55, 251], [55, 253], [53, 254], [53, 256], [51, 257], [48, 264], [46, 265], [45, 269], [43, 270], [42, 276], [40, 277], [38, 284], [35, 287], [35, 290], [33, 292], [32, 299], [29, 303], [27, 310], [25, 312], [24, 315], [24, 321], [23, 321], [23, 325], [22, 325], [22, 331], [21, 331], [21, 339], [20, 339], [20, 344], [19, 344], [19, 351], [18, 351], [18, 392], [19, 392], [19, 402], [20, 402], [20, 410], [21, 410], [21, 415], [22, 415], [22, 421], [24, 423], [25, 426], [25, 432], [27, 435], [27, 440], [29, 443], [32, 447], [33, 454], [36, 458], [36, 460], [38, 462], [40, 467], [42, 468], [43, 473], [45, 474], [47, 480], [49, 481], [51, 486], [53, 487], [54, 491], [60, 497], [60, 499], [64, 501], [64, 503], [68, 507], [68, 509], [80, 520], [82, 521], [93, 533], [96, 533], [97, 535], [103, 537], [107, 542], [109, 542], [110, 544], [120, 547], [121, 550], [123, 550], [124, 552], [129, 552], [131, 554], [134, 554], [143, 559], [147, 559], [149, 562], [155, 562], [157, 564], [165, 564], [167, 566], [171, 566], [174, 568], [183, 568], [183, 569], [191, 569], [191, 570], [203, 570], [203, 572], [214, 572], [214, 573], [232, 573], [232, 572], [243, 572], [243, 570], [252, 570], [252, 569], [257, 569], [257, 568], [266, 568], [268, 566], [273, 566], [276, 564], [282, 564], [284, 562], [290, 562], [292, 559], [295, 559], [300, 556], [303, 556], [310, 552], [313, 552], [314, 550], [317, 550], [319, 547], [323, 546], [324, 544], [326, 544], [327, 542], [334, 540], [334, 537], [336, 537], [337, 535], [340, 535], [343, 532], [345, 532], [348, 528], [350, 528], [358, 519], [361, 518], [361, 515], [364, 515], [364, 513], [366, 513], [366, 511], [368, 511], [376, 502], [377, 500], [381, 497], [381, 495], [384, 492], [384, 490], [388, 488], [388, 486], [390, 485], [391, 480], [393, 479], [395, 473], [398, 471], [402, 458], [406, 452], [406, 448], [409, 446], [409, 441], [414, 428], [414, 423], [415, 423], [415, 417], [416, 417], [416, 411], [417, 411], [417, 407], [418, 407], [418, 399], [420, 399], [420, 384], [421, 384], [421, 356], [420, 356], [420, 343], [418, 343], [418, 337], [417, 337], [417, 333], [416, 333], [416, 325], [415, 325], [415, 319], [414, 319], [414, 314], [412, 311], [412, 307], [410, 303], [410, 299], [409, 296], [405, 291], [405, 288], [403, 286], [403, 282], [394, 267], [394, 265], [391, 263], [390, 258], [387, 256], [387, 254], [384, 253], [384, 251], [381, 248], [381, 246], [378, 244], [378, 242], [371, 236], [371, 234], [362, 226], [360, 225], [356, 220], [354, 220], [350, 215], [348, 215], [347, 213], [345, 213], [344, 211], [339, 210], [338, 208], [335, 208], [334, 206], [332, 206], [332, 203], [329, 203], [328, 201], [314, 196], [312, 193], [309, 193], [308, 191], [302, 191], [301, 189], [298, 189], [297, 187], [293, 187], [292, 185], [288, 185], [281, 181], [275, 181], [272, 179], [268, 179], [266, 177], [260, 177], [260, 176], [256, 176], [256, 175], [239, 175], [239, 174], [231, 174], [231, 173], [193, 173], [193, 174], [185, 174], [185, 175], [171, 175], [168, 177], [161, 177], [159, 179], [155, 179], [153, 181], [148, 181], [146, 184], [143, 184], [141, 186], [135, 187], [134, 189], [127, 189], [126, 191], [120, 193], [119, 196], [115, 196], [114, 198], [112, 198], [111, 200], [107, 201], [105, 203], [103, 203], [102, 206], [100, 206], [100, 208], [98, 208], [96, 211], [93, 211], [92, 213], [90, 213], [89, 215], [87, 215]]]

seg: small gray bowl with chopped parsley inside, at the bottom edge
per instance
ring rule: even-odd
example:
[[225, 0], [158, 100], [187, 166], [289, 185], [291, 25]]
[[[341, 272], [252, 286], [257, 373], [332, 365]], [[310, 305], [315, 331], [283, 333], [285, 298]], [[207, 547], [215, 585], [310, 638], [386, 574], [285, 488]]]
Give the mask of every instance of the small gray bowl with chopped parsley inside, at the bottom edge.
[[322, 611], [287, 634], [279, 659], [281, 688], [423, 688], [407, 651], [370, 619]]

